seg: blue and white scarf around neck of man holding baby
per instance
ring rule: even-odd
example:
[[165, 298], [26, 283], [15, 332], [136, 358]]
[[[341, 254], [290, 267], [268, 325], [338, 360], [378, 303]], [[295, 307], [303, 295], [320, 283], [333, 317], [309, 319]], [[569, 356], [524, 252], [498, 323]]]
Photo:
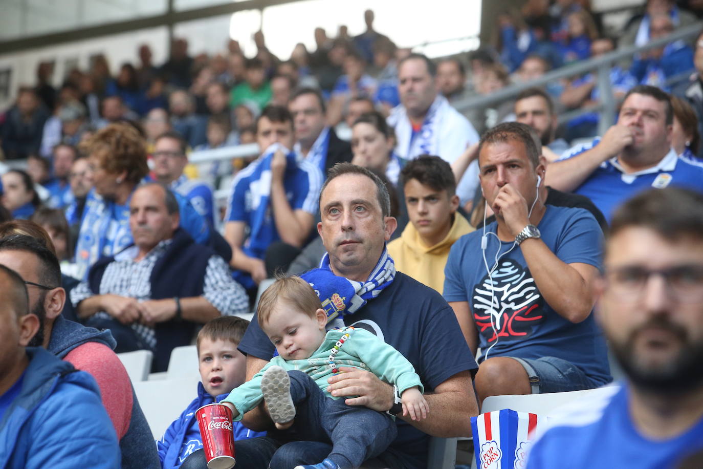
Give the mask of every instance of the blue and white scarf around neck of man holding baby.
[[308, 271], [301, 277], [310, 283], [327, 313], [327, 329], [343, 328], [342, 317], [354, 314], [368, 300], [377, 297], [395, 278], [393, 258], [383, 248], [381, 257], [366, 282], [357, 282], [336, 276], [330, 269], [330, 256], [325, 252], [319, 269]]

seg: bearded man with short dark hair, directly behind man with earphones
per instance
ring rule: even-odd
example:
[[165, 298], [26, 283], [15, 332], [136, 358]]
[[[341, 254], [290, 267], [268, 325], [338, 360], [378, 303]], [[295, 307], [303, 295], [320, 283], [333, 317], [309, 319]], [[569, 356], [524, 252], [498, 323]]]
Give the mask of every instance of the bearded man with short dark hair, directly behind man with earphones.
[[515, 122], [527, 124], [538, 134], [542, 153], [549, 161], [556, 160], [569, 149], [564, 139], [555, 139], [557, 115], [552, 99], [539, 88], [529, 88], [517, 95], [515, 100]]

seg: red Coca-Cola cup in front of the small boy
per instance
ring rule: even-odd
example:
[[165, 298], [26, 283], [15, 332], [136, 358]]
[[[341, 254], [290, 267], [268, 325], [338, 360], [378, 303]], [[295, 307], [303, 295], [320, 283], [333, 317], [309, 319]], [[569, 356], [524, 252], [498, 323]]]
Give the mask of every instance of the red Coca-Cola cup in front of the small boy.
[[231, 469], [235, 463], [232, 411], [224, 404], [207, 404], [196, 416], [207, 468]]

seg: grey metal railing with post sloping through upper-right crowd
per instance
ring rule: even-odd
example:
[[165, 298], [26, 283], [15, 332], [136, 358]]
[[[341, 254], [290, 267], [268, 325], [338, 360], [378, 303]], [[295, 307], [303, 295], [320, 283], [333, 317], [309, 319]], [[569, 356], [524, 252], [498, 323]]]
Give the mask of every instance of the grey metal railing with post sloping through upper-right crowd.
[[691, 37], [696, 37], [701, 30], [703, 30], [703, 22], [694, 23], [687, 27], [683, 27], [680, 30], [669, 34], [669, 36], [661, 37], [659, 39], [654, 39], [650, 41], [649, 44], [645, 46], [629, 46], [622, 49], [617, 49], [604, 54], [600, 57], [591, 58], [589, 60], [584, 60], [581, 62], [576, 62], [572, 65], [567, 65], [562, 68], [557, 68], [547, 72], [542, 77], [538, 79], [531, 80], [529, 82], [524, 82], [520, 84], [512, 84], [506, 86], [503, 89], [495, 91], [492, 94], [486, 96], [472, 96], [470, 98], [465, 98], [463, 100], [453, 103], [453, 106], [459, 111], [463, 112], [465, 110], [470, 110], [472, 108], [482, 108], [487, 105], [494, 103], [501, 103], [502, 101], [507, 101], [514, 99], [521, 91], [525, 89], [532, 88], [533, 86], [543, 86], [549, 82], [555, 80], [570, 78], [576, 75], [582, 75], [588, 72], [596, 72], [596, 83], [598, 86], [598, 92], [600, 93], [600, 104], [597, 106], [592, 106], [590, 108], [585, 108], [579, 110], [579, 113], [574, 113], [575, 115], [598, 111], [600, 112], [600, 120], [598, 121], [598, 132], [600, 134], [605, 133], [605, 131], [614, 123], [615, 111], [617, 108], [617, 103], [612, 98], [612, 84], [610, 83], [610, 70], [613, 65], [621, 62], [622, 60], [631, 60], [637, 53], [642, 51], [647, 51], [649, 49], [654, 49], [656, 47], [666, 46], [673, 41], [678, 41], [679, 39], [690, 39]]

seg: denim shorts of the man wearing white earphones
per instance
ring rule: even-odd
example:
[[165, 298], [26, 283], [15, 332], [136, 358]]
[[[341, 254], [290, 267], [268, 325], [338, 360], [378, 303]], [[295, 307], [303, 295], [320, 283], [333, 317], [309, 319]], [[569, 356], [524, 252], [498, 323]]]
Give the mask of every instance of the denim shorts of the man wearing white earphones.
[[588, 378], [581, 368], [570, 361], [555, 356], [542, 356], [536, 360], [511, 356], [527, 371], [532, 394], [593, 389], [600, 386]]

